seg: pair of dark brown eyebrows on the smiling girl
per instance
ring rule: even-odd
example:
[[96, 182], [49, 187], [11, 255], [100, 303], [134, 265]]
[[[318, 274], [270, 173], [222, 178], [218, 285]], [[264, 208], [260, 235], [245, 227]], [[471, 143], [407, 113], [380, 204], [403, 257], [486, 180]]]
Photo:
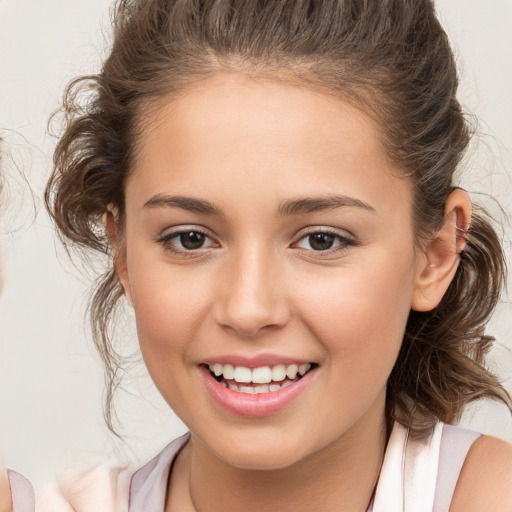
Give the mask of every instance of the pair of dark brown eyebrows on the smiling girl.
[[[204, 199], [197, 199], [188, 196], [168, 196], [157, 194], [144, 203], [144, 208], [180, 208], [194, 213], [205, 215], [222, 216], [223, 212], [213, 203]], [[362, 208], [375, 213], [375, 208], [353, 197], [344, 195], [328, 195], [322, 197], [305, 197], [299, 199], [290, 199], [281, 203], [277, 209], [279, 216], [303, 215], [335, 208], [355, 207]]]

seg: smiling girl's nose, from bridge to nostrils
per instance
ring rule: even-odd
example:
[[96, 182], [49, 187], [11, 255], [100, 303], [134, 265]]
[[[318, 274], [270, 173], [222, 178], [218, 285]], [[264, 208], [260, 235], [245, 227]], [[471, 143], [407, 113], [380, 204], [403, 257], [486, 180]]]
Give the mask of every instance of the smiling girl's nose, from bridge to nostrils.
[[219, 275], [216, 322], [244, 337], [255, 337], [290, 319], [283, 269], [272, 251], [247, 249], [226, 262]]

